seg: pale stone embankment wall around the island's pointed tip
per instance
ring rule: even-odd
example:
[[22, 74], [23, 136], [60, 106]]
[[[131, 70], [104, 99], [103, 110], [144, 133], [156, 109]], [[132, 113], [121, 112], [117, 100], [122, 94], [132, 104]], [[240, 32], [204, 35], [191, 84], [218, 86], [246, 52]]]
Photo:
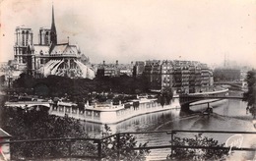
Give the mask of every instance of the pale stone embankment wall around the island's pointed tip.
[[58, 102], [50, 104], [49, 114], [56, 116], [68, 116], [87, 122], [98, 124], [116, 124], [135, 116], [160, 112], [169, 109], [180, 108], [178, 98], [173, 98], [168, 105], [161, 106], [158, 99], [139, 98], [118, 105], [110, 103], [85, 104], [84, 109], [79, 109], [76, 104]]

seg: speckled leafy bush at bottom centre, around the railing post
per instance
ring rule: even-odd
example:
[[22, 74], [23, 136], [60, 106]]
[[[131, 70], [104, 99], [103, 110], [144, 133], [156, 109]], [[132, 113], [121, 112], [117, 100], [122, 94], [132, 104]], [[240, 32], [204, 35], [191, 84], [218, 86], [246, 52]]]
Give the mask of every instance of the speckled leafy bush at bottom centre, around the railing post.
[[[102, 157], [105, 160], [114, 161], [118, 160], [117, 153], [119, 151], [119, 160], [124, 161], [141, 161], [146, 160], [146, 156], [150, 154], [150, 150], [141, 149], [133, 150], [137, 147], [136, 137], [131, 134], [114, 134], [111, 136], [111, 130], [107, 125], [104, 125], [102, 136], [106, 137], [102, 142]], [[109, 137], [107, 137], [109, 136]], [[119, 145], [118, 137], [119, 136]], [[140, 143], [139, 147], [146, 147], [146, 143]]]

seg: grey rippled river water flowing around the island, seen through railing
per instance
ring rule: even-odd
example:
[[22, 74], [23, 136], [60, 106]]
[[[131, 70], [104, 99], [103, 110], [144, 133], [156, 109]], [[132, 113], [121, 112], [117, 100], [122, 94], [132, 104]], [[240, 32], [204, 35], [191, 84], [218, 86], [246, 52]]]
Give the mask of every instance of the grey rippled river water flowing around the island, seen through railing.
[[[240, 93], [229, 92], [229, 95]], [[148, 115], [131, 118], [116, 125], [109, 125], [112, 132], [148, 132], [166, 130], [191, 130], [191, 131], [238, 131], [256, 132], [253, 118], [250, 113], [246, 113], [246, 102], [229, 99], [222, 101], [222, 104], [213, 106], [214, 113], [210, 116], [186, 115], [180, 109], [172, 109]], [[197, 107], [194, 107], [197, 109]], [[193, 107], [191, 107], [193, 110]], [[99, 134], [102, 125], [84, 123], [86, 130], [91, 135]], [[177, 136], [191, 137], [195, 134], [178, 133]], [[213, 137], [220, 143], [225, 143], [233, 134], [203, 134], [203, 136]], [[138, 142], [149, 142], [148, 145], [169, 144], [170, 134], [135, 134]], [[256, 147], [256, 134], [241, 134], [241, 147]], [[230, 143], [230, 142], [229, 142]], [[239, 147], [237, 145], [237, 147]], [[148, 160], [159, 160], [166, 158], [170, 149], [154, 149]], [[255, 152], [235, 151], [226, 160], [253, 160], [256, 159]]]

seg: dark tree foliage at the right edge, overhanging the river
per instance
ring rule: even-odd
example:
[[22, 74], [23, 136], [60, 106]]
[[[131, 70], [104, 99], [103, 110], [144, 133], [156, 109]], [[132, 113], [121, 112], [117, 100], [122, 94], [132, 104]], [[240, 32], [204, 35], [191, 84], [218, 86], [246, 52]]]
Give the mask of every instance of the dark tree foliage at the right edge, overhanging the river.
[[244, 93], [244, 101], [247, 101], [247, 110], [256, 117], [256, 71], [252, 70], [247, 73], [246, 81], [248, 91]]

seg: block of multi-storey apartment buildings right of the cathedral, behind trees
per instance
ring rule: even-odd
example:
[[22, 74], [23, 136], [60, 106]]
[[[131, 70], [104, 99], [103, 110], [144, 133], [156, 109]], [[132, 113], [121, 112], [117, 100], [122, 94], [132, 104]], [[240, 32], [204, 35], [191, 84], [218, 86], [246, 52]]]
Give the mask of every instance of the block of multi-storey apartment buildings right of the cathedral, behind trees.
[[193, 61], [146, 61], [143, 75], [152, 90], [172, 88], [174, 93], [194, 93], [213, 88], [213, 72], [206, 64]]

